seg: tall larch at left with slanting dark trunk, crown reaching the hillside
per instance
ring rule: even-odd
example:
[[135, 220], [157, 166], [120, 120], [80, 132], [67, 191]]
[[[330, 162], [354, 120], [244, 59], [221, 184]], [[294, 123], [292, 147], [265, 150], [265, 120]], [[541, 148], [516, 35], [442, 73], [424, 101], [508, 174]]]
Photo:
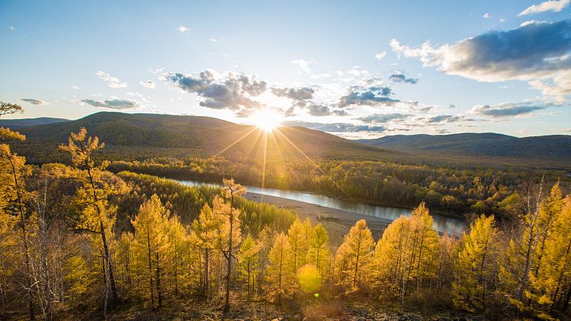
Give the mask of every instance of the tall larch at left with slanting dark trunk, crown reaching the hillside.
[[76, 190], [77, 202], [84, 207], [82, 217], [77, 222], [78, 230], [88, 231], [101, 235], [103, 255], [106, 267], [106, 291], [104, 300], [104, 314], [107, 308], [108, 292], [111, 290], [112, 302], [117, 302], [117, 287], [113, 275], [113, 263], [111, 262], [110, 240], [111, 228], [113, 227], [113, 210], [108, 206], [110, 195], [119, 195], [128, 192], [127, 185], [115, 175], [106, 172], [108, 162], [103, 161], [96, 165], [93, 158], [96, 151], [105, 146], [99, 143], [97, 137], [88, 137], [86, 128], [81, 128], [78, 133], [71, 133], [67, 146], [60, 146], [61, 151], [71, 155], [76, 173], [74, 177], [80, 186]]

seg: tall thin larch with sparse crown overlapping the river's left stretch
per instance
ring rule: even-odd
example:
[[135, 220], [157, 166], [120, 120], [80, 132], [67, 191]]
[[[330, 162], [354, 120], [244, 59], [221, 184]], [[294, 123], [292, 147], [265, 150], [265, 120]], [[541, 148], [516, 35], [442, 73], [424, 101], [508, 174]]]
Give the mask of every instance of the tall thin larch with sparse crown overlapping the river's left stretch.
[[[231, 287], [231, 272], [232, 272], [232, 258], [234, 258], [234, 253], [236, 252], [237, 243], [240, 242], [240, 222], [238, 218], [240, 217], [240, 210], [234, 208], [234, 202], [238, 196], [246, 193], [246, 188], [238, 183], [234, 183], [234, 179], [224, 179], [222, 180], [224, 185], [223, 193], [224, 197], [228, 202], [230, 202], [230, 210], [227, 212], [228, 215], [228, 248], [223, 251], [224, 256], [228, 262], [228, 268], [226, 270], [226, 302], [224, 303], [224, 312], [230, 310], [230, 287]], [[236, 220], [236, 222], [235, 222]], [[236, 242], [236, 240], [238, 242]]]

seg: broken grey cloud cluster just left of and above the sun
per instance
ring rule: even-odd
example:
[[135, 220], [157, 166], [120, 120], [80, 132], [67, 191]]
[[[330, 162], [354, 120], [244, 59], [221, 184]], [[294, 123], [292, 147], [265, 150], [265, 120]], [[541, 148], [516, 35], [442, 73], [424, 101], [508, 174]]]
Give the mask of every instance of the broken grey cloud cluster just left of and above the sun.
[[260, 103], [251, 97], [267, 91], [266, 81], [257, 81], [243, 74], [226, 73], [220, 80], [209, 70], [198, 76], [184, 73], [165, 73], [162, 76], [183, 91], [196, 93], [201, 98], [200, 106], [241, 111], [240, 115], [246, 115], [246, 109], [260, 107]]

